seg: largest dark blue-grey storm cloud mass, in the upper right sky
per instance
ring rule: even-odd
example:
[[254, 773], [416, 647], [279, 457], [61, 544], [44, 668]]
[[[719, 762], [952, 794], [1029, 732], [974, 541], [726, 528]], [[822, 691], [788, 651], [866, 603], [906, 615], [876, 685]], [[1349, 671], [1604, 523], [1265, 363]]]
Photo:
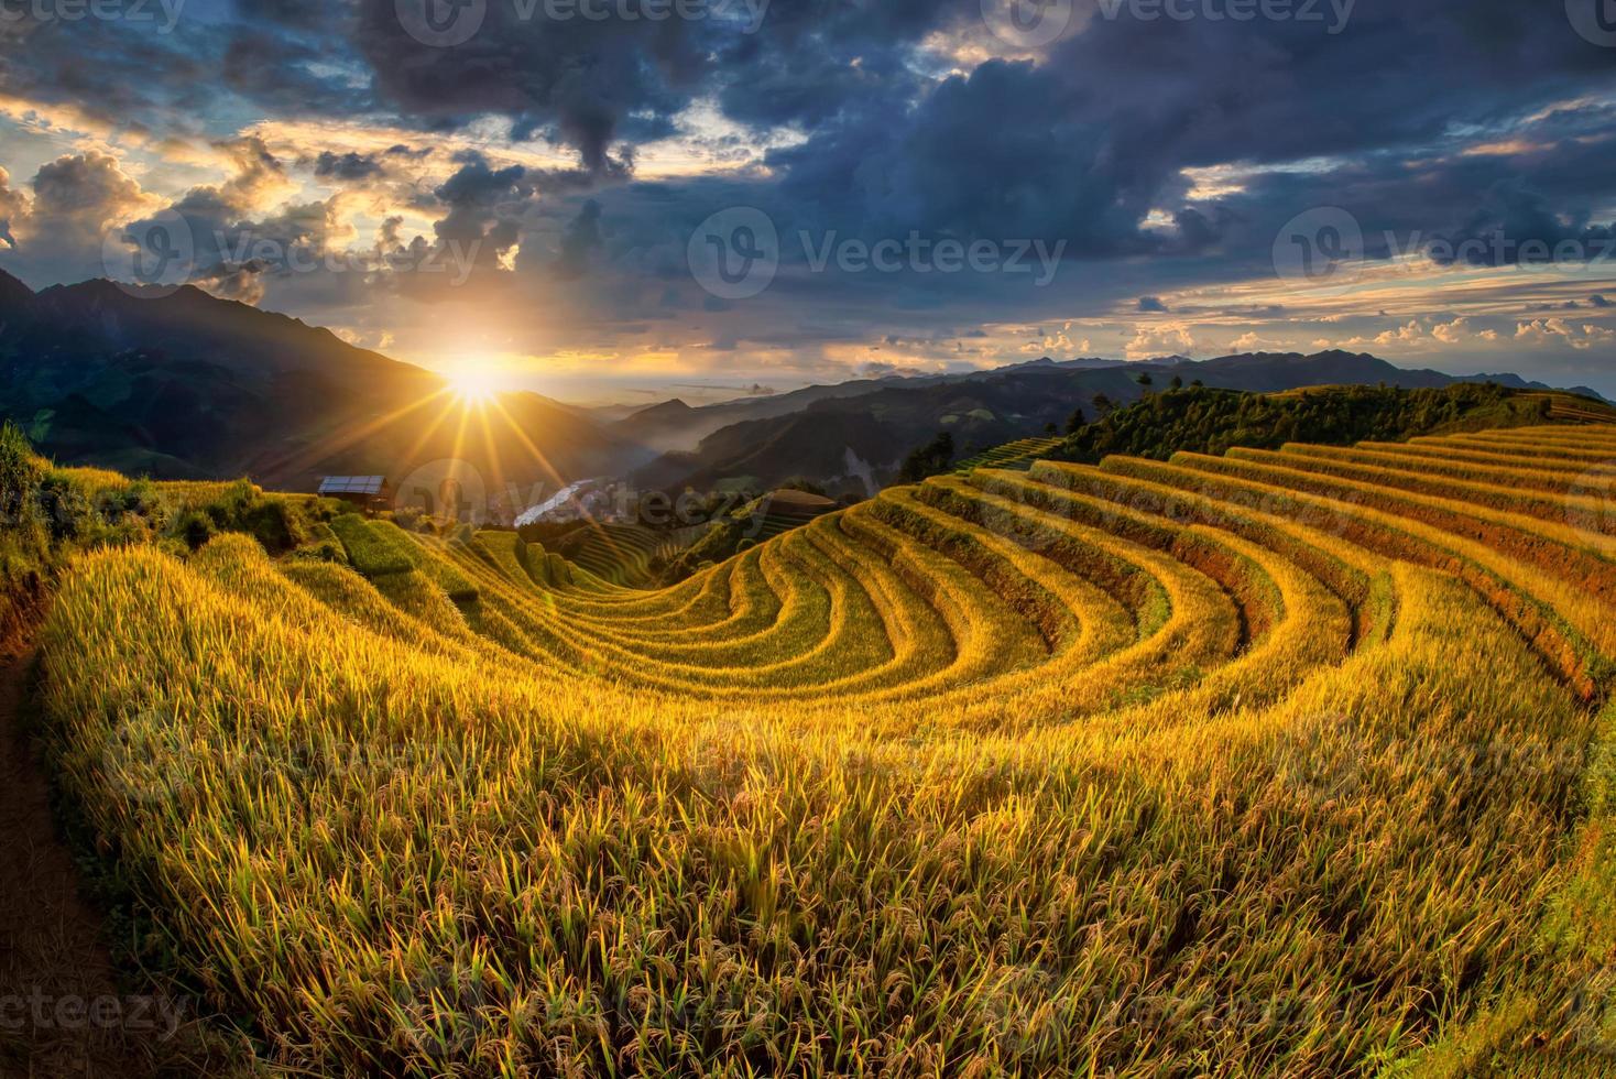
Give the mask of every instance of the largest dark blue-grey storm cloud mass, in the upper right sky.
[[[1408, 158], [1458, 149], [1466, 126], [1472, 142], [1509, 137], [1534, 108], [1610, 90], [1613, 74], [1611, 55], [1556, 13], [1501, 0], [1366, 2], [1340, 36], [1294, 23], [1096, 18], [1047, 63], [989, 61], [908, 110], [848, 99], [769, 163], [784, 171], [784, 192], [847, 229], [1063, 237], [1078, 258], [1194, 255], [1233, 239], [1256, 257], [1290, 216], [1343, 195], [1364, 197], [1366, 226], [1462, 229], [1451, 207], [1475, 202], [1479, 176], [1490, 176], [1485, 191], [1519, 162], [1424, 168]], [[1608, 107], [1568, 107], [1540, 123], [1537, 134], [1563, 150], [1530, 170], [1548, 216], [1610, 187], [1613, 155], [1598, 141], [1613, 132]], [[1186, 166], [1309, 157], [1325, 162], [1256, 183], [1269, 205], [1249, 195], [1186, 205]], [[1422, 194], [1432, 171], [1464, 186], [1458, 204]], [[1283, 199], [1288, 184], [1296, 199]], [[1399, 208], [1409, 202], [1432, 215], [1409, 221]], [[1173, 228], [1141, 229], [1151, 208], [1165, 208]], [[1577, 234], [1529, 218], [1530, 208], [1517, 202], [1501, 223]]]

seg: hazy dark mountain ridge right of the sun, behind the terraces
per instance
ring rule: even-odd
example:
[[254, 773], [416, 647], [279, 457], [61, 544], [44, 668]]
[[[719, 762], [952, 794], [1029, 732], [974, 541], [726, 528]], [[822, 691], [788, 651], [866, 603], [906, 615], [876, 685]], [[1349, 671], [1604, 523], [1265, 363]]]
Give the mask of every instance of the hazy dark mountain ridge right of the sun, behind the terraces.
[[[1151, 378], [1151, 386], [1139, 383], [1143, 376]], [[968, 457], [1042, 435], [1049, 425], [1063, 431], [1079, 409], [1092, 420], [1099, 394], [1113, 405], [1128, 405], [1152, 388], [1165, 389], [1175, 376], [1186, 384], [1201, 381], [1217, 389], [1254, 393], [1380, 383], [1440, 389], [1459, 381], [1548, 389], [1517, 375], [1461, 378], [1404, 370], [1374, 355], [1341, 351], [1315, 355], [1246, 352], [1199, 362], [1185, 357], [1136, 363], [1042, 359], [966, 375], [855, 383], [856, 393], [819, 396], [789, 415], [747, 415], [705, 435], [693, 451], [664, 454], [633, 478], [648, 488], [692, 486], [698, 491], [726, 483], [769, 489], [790, 480], [810, 480], [834, 494], [866, 494], [871, 486], [892, 481], [903, 457], [937, 431], [952, 431], [958, 456]], [[1598, 396], [1585, 388], [1572, 393]]]

